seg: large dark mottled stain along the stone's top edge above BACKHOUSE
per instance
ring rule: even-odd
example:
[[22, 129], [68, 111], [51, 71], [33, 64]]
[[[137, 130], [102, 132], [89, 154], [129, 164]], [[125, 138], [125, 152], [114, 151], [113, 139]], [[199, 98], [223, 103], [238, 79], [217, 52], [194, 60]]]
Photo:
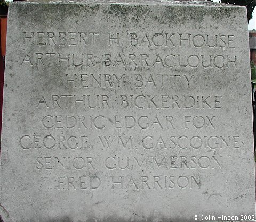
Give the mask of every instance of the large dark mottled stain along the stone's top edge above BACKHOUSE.
[[[187, 5], [166, 5], [163, 6], [161, 13], [154, 11], [153, 5], [124, 5], [124, 4], [111, 4], [106, 10], [104, 10], [106, 17], [109, 19], [109, 15], [117, 17], [121, 21], [138, 23], [150, 16], [151, 19], [158, 21], [160, 24], [184, 24], [186, 21], [194, 21], [196, 23], [202, 23], [205, 16], [210, 17], [216, 22], [221, 22], [223, 19], [234, 19], [237, 16], [234, 13], [242, 11], [243, 8], [233, 7], [205, 7], [195, 6], [190, 7], [190, 13], [187, 13]], [[221, 16], [220, 16], [221, 15]]]

